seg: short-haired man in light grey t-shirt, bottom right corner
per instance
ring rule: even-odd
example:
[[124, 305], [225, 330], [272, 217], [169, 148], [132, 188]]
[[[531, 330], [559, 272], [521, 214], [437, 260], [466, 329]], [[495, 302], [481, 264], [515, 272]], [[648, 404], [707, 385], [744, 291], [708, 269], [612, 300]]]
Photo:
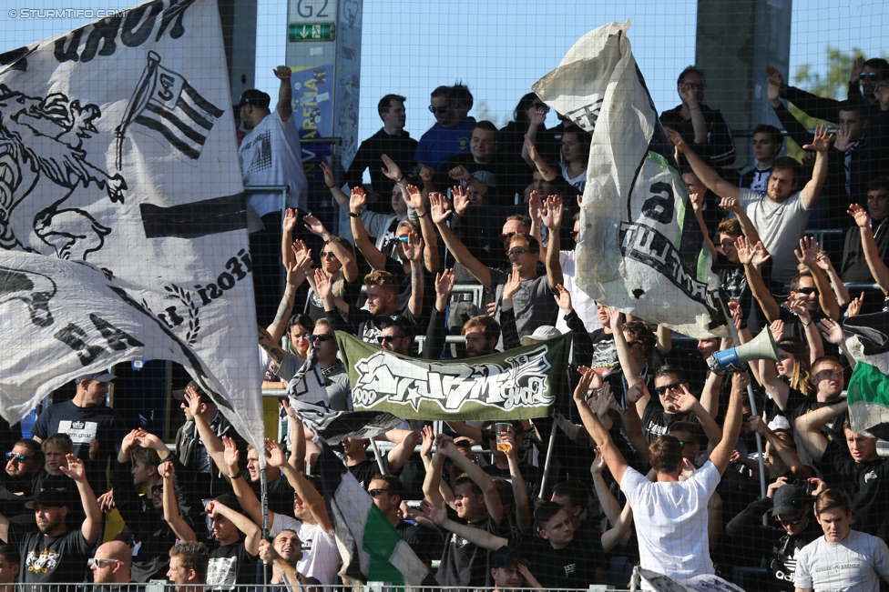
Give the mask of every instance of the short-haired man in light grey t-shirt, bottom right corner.
[[827, 489], [815, 499], [815, 517], [824, 536], [802, 547], [796, 557], [796, 592], [861, 590], [878, 592], [880, 578], [889, 582], [889, 547], [884, 540], [849, 527], [849, 498]]

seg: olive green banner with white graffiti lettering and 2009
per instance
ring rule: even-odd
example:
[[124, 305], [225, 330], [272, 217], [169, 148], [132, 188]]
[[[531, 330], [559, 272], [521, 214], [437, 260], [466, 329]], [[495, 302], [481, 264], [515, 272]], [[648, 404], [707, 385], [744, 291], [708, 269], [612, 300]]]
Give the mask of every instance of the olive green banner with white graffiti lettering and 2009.
[[502, 354], [434, 362], [336, 332], [355, 411], [403, 419], [529, 419], [550, 414], [566, 387], [571, 334]]

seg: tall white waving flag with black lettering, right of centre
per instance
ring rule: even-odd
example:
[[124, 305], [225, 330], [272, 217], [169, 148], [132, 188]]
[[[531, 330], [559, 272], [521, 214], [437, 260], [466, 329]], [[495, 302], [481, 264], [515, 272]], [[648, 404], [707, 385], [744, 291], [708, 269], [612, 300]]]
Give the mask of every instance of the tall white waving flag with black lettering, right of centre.
[[592, 135], [577, 286], [694, 337], [726, 334], [719, 279], [624, 25], [581, 37], [536, 94]]

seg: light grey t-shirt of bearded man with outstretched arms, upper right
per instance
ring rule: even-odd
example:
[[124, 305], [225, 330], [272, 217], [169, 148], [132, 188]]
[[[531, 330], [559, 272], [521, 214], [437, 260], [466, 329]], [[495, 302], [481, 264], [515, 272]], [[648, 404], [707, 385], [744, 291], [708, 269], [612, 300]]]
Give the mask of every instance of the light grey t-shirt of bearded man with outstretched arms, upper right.
[[800, 248], [800, 237], [809, 224], [812, 210], [802, 203], [797, 191], [781, 204], [751, 189], [741, 189], [741, 207], [760, 234], [762, 246], [771, 255], [772, 281], [789, 282], [796, 276], [798, 260], [793, 250]]

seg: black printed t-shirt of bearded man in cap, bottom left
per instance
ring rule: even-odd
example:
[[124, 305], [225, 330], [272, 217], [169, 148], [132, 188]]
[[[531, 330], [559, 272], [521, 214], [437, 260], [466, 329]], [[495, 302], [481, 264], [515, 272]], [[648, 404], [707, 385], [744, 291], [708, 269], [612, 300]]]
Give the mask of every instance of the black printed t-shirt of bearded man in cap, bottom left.
[[79, 529], [58, 537], [48, 537], [11, 523], [6, 540], [18, 547], [22, 557], [21, 581], [26, 584], [23, 586], [25, 592], [46, 592], [46, 587], [27, 586], [28, 584], [82, 582], [87, 572], [87, 559], [93, 550]]

